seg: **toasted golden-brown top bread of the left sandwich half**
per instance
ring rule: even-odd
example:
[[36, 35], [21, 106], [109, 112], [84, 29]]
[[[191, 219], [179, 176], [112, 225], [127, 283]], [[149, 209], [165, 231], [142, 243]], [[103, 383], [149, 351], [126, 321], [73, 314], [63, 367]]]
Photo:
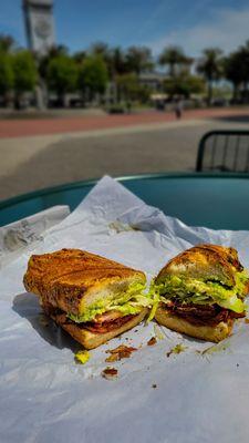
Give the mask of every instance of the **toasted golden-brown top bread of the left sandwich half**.
[[23, 278], [25, 289], [43, 305], [74, 315], [97, 299], [115, 297], [133, 282], [145, 284], [145, 274], [80, 249], [31, 256]]

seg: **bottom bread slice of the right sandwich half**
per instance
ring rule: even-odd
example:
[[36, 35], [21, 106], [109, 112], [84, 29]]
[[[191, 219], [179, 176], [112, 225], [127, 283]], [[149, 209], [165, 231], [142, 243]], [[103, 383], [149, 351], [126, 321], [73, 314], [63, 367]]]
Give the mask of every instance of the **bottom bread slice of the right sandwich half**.
[[214, 341], [215, 343], [226, 339], [230, 334], [234, 324], [234, 320], [229, 319], [227, 322], [220, 321], [216, 326], [196, 326], [160, 307], [156, 310], [155, 319], [158, 323], [173, 331], [186, 333], [186, 336], [200, 340]]

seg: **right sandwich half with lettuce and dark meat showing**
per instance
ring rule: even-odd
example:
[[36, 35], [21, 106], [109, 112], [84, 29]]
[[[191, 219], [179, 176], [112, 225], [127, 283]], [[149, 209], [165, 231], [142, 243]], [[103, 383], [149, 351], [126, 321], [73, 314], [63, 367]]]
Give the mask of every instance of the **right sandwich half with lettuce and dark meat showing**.
[[173, 258], [158, 274], [155, 319], [174, 331], [218, 342], [246, 316], [249, 276], [234, 248], [198, 245]]

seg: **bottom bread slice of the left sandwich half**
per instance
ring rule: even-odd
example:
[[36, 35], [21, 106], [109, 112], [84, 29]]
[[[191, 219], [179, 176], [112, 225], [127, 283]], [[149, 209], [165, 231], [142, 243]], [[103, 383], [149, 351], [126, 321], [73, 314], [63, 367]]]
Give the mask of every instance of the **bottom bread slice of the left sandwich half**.
[[64, 315], [51, 315], [52, 319], [79, 341], [85, 349], [94, 349], [105, 343], [106, 341], [120, 336], [121, 333], [134, 328], [144, 320], [147, 309], [144, 308], [137, 316], [122, 324], [120, 328], [113, 329], [110, 332], [92, 332], [87, 329], [80, 328], [77, 323], [69, 322]]

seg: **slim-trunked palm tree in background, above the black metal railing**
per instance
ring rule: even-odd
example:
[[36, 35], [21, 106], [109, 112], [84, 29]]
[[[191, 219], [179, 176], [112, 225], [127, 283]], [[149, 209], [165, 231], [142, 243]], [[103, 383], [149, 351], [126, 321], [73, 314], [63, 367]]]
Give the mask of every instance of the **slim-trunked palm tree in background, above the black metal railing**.
[[222, 51], [219, 48], [207, 48], [203, 51], [203, 58], [197, 65], [197, 71], [204, 75], [208, 82], [208, 104], [212, 99], [214, 81], [220, 79], [222, 74]]

